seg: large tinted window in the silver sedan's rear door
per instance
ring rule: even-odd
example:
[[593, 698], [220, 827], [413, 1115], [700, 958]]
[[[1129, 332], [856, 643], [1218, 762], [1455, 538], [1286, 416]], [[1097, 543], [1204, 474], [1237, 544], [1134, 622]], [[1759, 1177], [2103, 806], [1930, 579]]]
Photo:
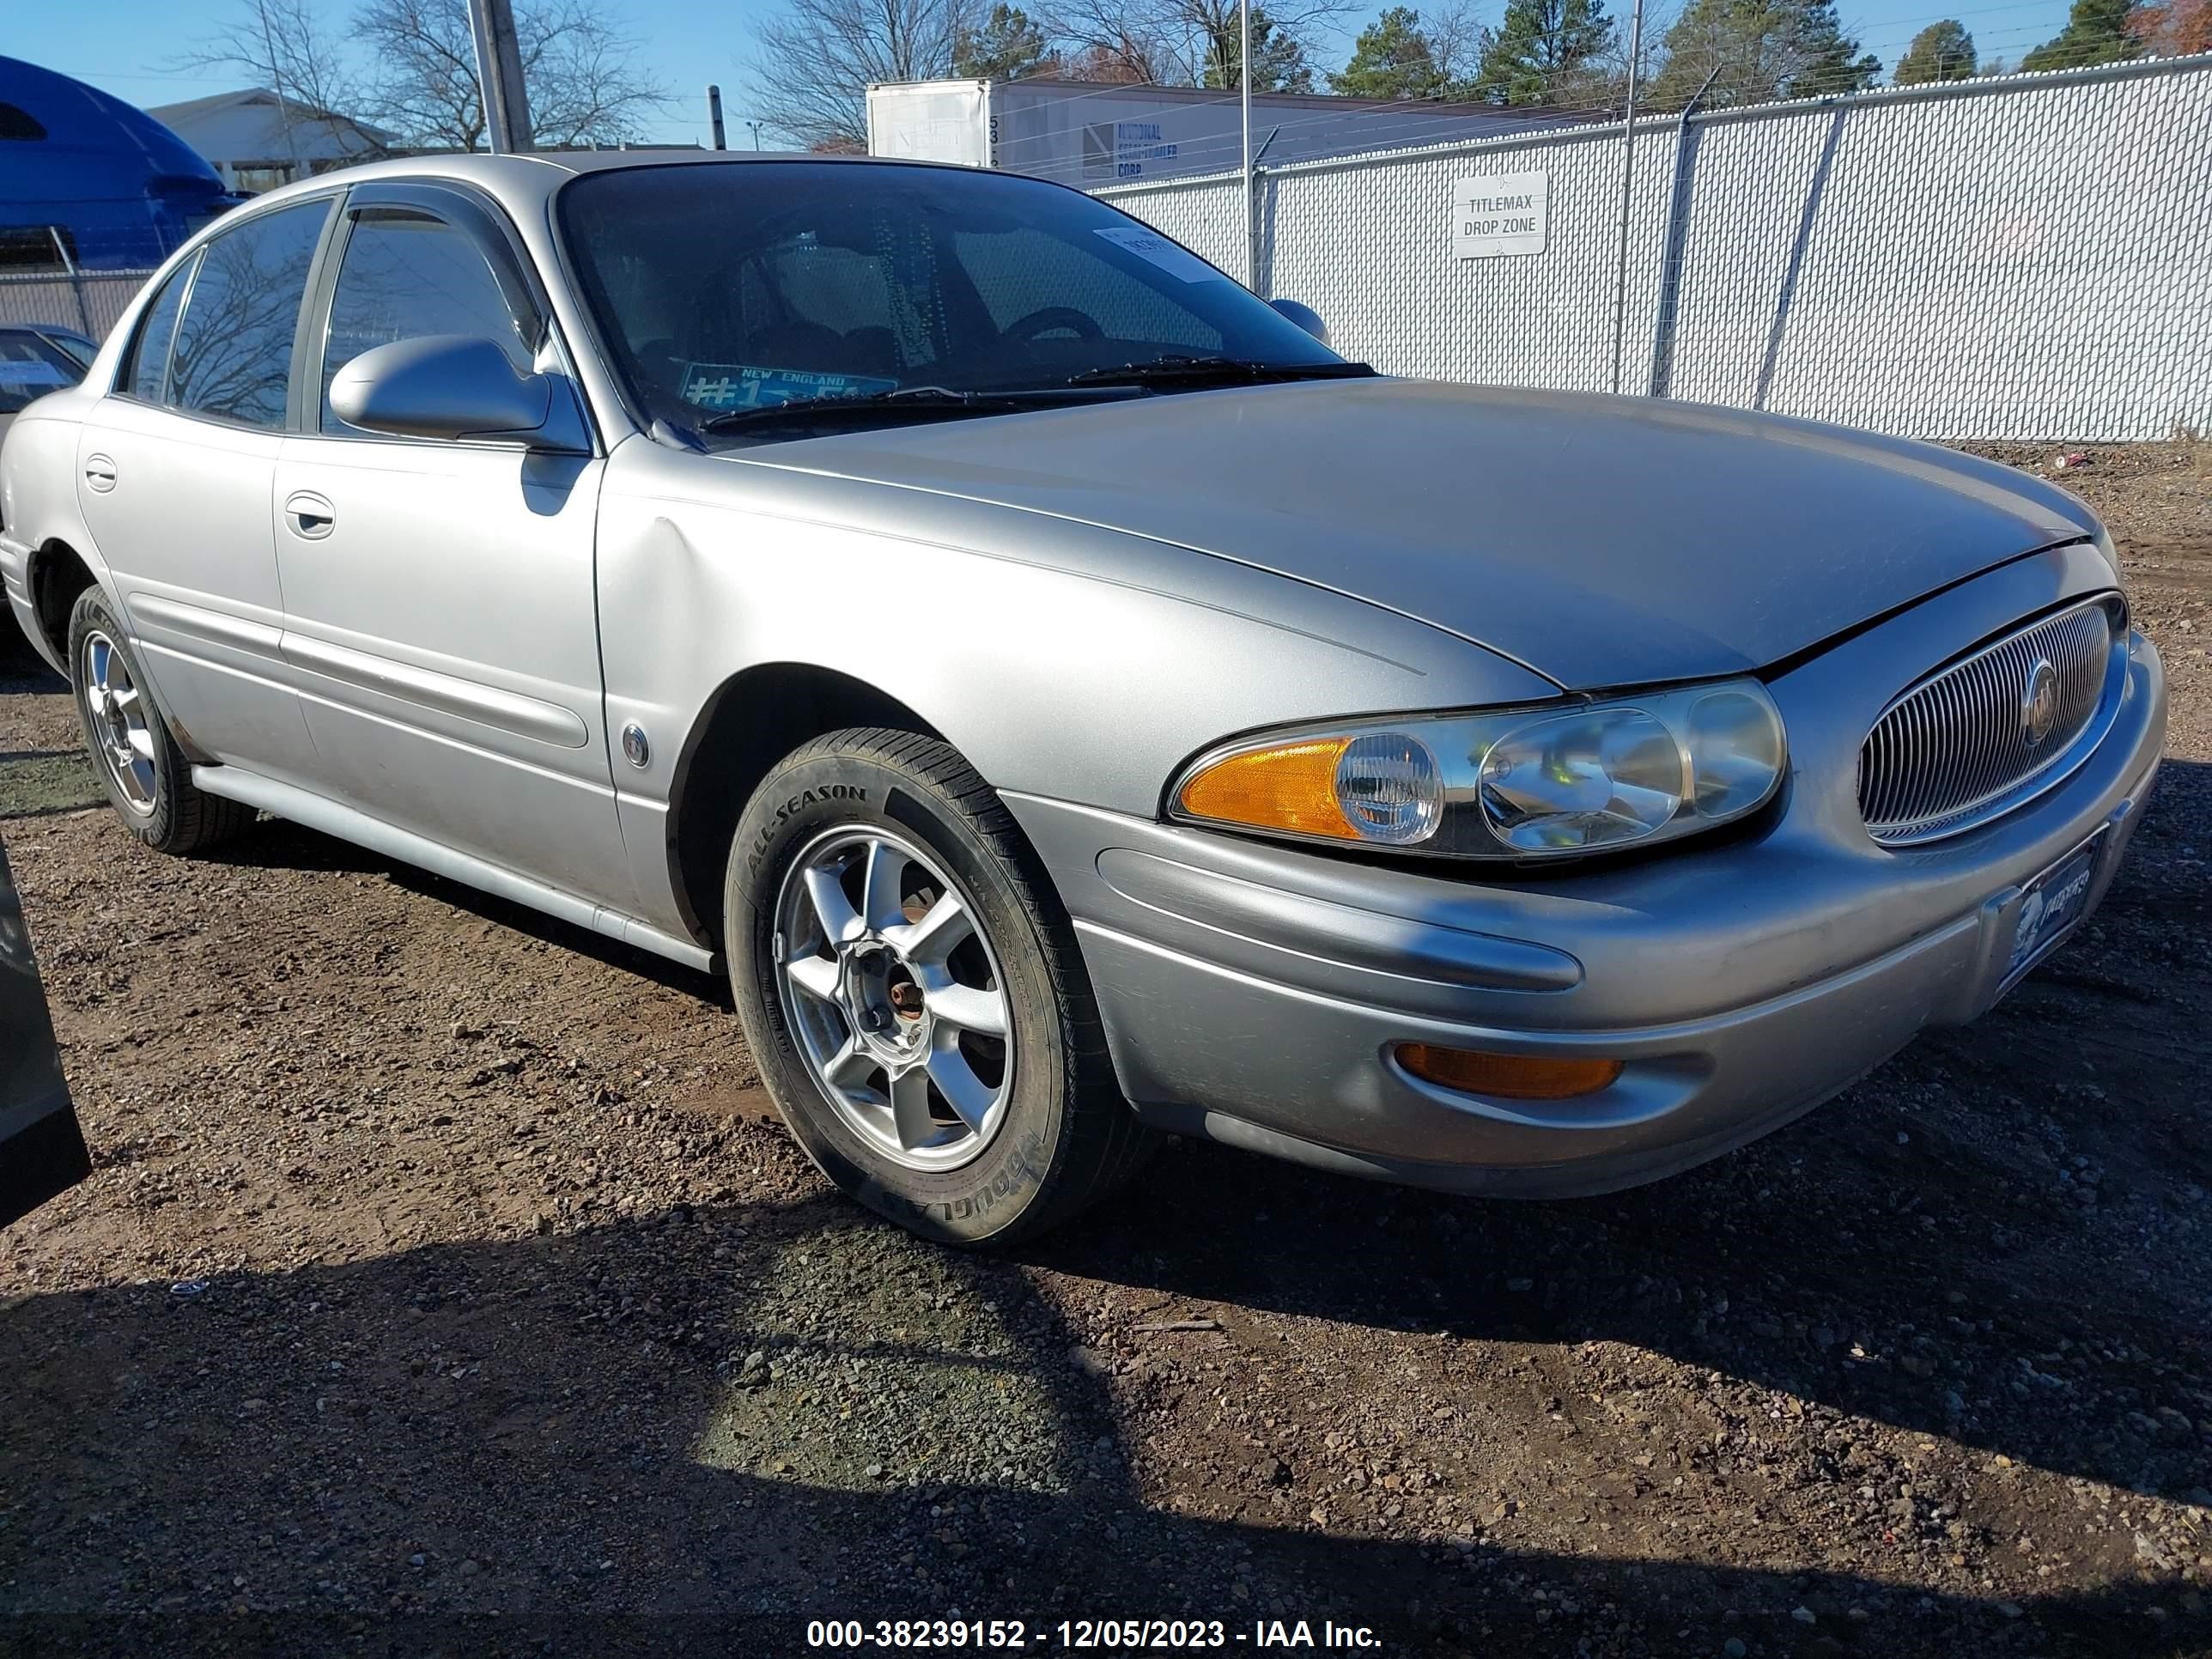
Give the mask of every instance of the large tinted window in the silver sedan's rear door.
[[327, 201], [250, 219], [210, 241], [177, 323], [168, 403], [190, 414], [283, 427], [292, 332]]

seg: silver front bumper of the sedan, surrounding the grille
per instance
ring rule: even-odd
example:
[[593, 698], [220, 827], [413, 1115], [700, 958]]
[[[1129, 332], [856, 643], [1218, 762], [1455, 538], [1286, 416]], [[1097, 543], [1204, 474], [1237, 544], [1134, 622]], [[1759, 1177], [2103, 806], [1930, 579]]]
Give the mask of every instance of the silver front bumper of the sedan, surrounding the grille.
[[[1772, 816], [1644, 860], [1482, 885], [1009, 794], [1075, 916], [1139, 1113], [1325, 1168], [1506, 1197], [1606, 1192], [1818, 1106], [1927, 1026], [1982, 1013], [2022, 885], [2108, 825], [2090, 909], [2166, 730], [2132, 644], [2112, 728], [1971, 834], [1878, 847], [1858, 743], [1964, 641], [2110, 586], [2088, 549], [2020, 560], [1772, 681], [1792, 776]], [[1429, 867], [1433, 869], [1433, 867]], [[1568, 1102], [1425, 1084], [1402, 1042], [1626, 1062]]]

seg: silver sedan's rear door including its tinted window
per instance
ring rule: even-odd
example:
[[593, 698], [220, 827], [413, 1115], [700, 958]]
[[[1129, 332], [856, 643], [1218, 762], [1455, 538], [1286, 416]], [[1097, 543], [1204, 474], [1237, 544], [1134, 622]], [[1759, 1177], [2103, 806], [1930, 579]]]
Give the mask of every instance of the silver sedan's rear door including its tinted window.
[[270, 487], [301, 301], [334, 197], [259, 212], [179, 265], [84, 422], [77, 500], [188, 750], [296, 779]]

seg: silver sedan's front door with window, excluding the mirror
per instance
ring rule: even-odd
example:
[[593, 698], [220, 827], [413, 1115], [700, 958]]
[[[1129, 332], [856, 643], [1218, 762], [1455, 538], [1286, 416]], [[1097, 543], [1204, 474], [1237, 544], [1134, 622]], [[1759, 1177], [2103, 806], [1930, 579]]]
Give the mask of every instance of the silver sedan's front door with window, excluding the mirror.
[[338, 239], [274, 489], [316, 787], [635, 914], [599, 701], [602, 460], [392, 438], [330, 409], [332, 376], [392, 341], [489, 338], [518, 374], [555, 361], [520, 254], [489, 208], [438, 186], [354, 190]]

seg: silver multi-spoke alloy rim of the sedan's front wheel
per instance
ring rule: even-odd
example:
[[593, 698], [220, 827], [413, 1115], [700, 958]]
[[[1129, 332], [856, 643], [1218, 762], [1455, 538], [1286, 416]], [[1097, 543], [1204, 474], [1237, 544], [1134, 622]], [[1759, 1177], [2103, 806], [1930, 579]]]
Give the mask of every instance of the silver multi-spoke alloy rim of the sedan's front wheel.
[[783, 874], [776, 989], [823, 1097], [869, 1146], [953, 1170], [1013, 1093], [1013, 1020], [971, 898], [922, 849], [827, 830]]

